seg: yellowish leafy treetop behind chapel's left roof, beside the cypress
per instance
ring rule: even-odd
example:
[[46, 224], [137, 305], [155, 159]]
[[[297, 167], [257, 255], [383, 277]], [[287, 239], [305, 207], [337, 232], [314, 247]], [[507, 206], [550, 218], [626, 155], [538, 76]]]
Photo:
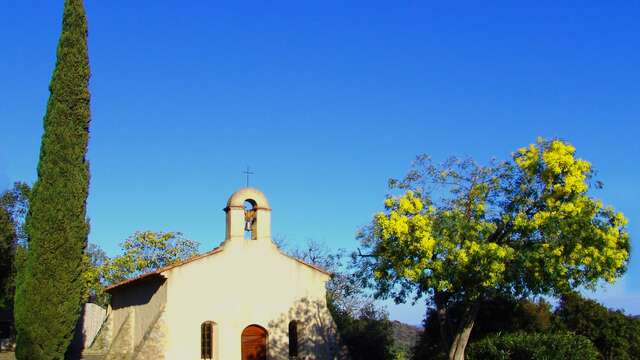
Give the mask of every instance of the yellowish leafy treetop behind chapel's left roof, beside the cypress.
[[198, 242], [185, 239], [179, 232], [136, 231], [120, 244], [123, 253], [104, 260], [99, 267], [106, 284], [115, 284], [164, 266], [188, 259], [198, 253]]

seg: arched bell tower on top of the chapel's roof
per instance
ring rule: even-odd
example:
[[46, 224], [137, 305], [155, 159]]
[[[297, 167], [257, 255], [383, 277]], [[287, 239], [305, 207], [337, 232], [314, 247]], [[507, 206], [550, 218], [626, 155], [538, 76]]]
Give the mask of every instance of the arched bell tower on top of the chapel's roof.
[[260, 190], [246, 187], [234, 192], [224, 211], [225, 242], [235, 239], [271, 242], [271, 208]]

